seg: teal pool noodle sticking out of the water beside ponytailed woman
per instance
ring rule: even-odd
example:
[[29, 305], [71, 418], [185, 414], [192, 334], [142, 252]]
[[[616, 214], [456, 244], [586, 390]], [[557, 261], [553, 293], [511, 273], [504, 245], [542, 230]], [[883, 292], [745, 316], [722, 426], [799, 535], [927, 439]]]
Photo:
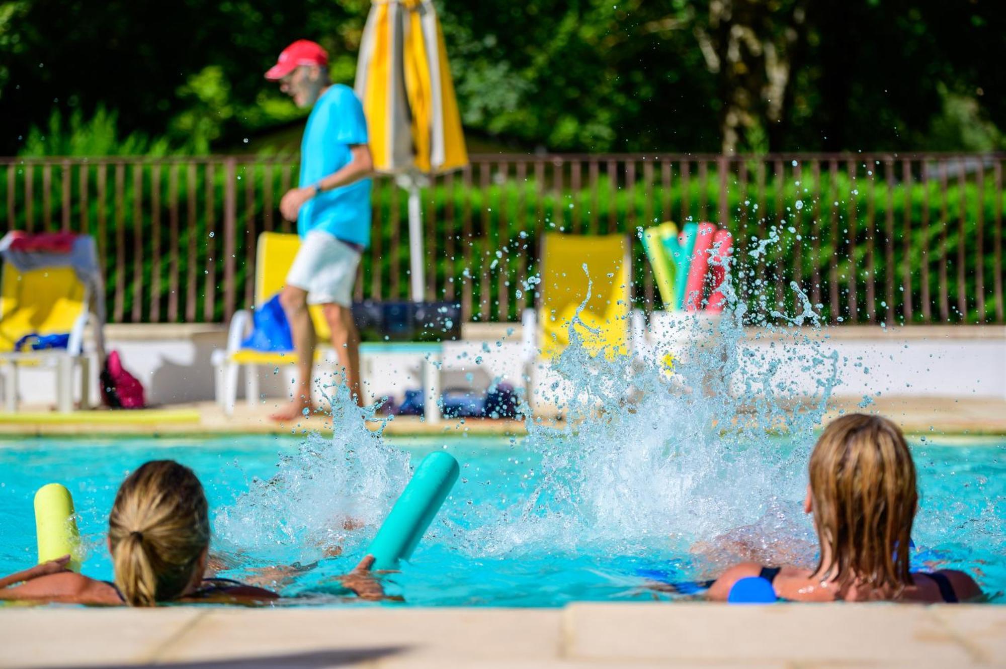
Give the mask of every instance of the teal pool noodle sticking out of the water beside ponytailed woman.
[[459, 473], [458, 461], [449, 453], [435, 451], [423, 458], [367, 548], [367, 554], [374, 556], [374, 570], [397, 569], [399, 560], [411, 556]]

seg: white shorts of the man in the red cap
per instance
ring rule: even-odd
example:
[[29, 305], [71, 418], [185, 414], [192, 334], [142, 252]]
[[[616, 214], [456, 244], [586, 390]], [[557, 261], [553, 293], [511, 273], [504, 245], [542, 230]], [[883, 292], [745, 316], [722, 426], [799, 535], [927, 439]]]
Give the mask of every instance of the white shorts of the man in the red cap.
[[353, 283], [360, 252], [320, 230], [313, 230], [301, 241], [294, 264], [287, 274], [287, 285], [308, 291], [308, 304], [352, 306]]

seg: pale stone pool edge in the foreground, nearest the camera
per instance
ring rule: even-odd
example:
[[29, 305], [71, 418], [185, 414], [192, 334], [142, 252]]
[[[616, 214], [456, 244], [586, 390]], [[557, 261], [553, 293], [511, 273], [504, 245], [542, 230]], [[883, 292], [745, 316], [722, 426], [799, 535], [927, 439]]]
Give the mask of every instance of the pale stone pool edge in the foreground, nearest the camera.
[[0, 667], [1003, 667], [1006, 607], [0, 610]]

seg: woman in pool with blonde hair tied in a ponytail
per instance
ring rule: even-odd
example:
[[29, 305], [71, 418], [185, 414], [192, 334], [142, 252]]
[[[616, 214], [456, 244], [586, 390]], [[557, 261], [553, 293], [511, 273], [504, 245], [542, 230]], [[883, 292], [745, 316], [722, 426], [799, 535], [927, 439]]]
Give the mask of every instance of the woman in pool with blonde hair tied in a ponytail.
[[[69, 555], [0, 579], [0, 600], [152, 607], [165, 602], [266, 603], [274, 592], [206, 578], [209, 517], [202, 484], [171, 460], [148, 462], [123, 482], [109, 516], [115, 581], [66, 569]], [[380, 599], [372, 558], [343, 578], [361, 598]], [[20, 584], [20, 585], [18, 585]]]

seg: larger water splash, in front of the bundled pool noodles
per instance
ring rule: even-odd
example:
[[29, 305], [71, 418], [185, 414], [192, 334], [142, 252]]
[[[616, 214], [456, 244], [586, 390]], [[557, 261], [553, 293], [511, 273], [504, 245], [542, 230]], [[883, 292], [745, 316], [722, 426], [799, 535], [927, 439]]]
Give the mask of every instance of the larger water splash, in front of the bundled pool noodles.
[[[655, 343], [635, 358], [592, 356], [577, 331], [590, 328], [570, 326], [570, 346], [539, 385], [563, 420], [527, 422], [526, 447], [541, 455], [537, 484], [498, 518], [472, 523], [466, 551], [590, 545], [646, 555], [732, 532], [729, 541], [752, 549], [785, 538], [806, 558], [803, 470], [839, 357], [806, 333], [820, 319], [795, 284], [801, 312], [747, 334], [745, 321], [771, 318], [747, 313], [726, 274], [722, 315], [663, 314]], [[789, 441], [771, 438], [780, 433]]]

